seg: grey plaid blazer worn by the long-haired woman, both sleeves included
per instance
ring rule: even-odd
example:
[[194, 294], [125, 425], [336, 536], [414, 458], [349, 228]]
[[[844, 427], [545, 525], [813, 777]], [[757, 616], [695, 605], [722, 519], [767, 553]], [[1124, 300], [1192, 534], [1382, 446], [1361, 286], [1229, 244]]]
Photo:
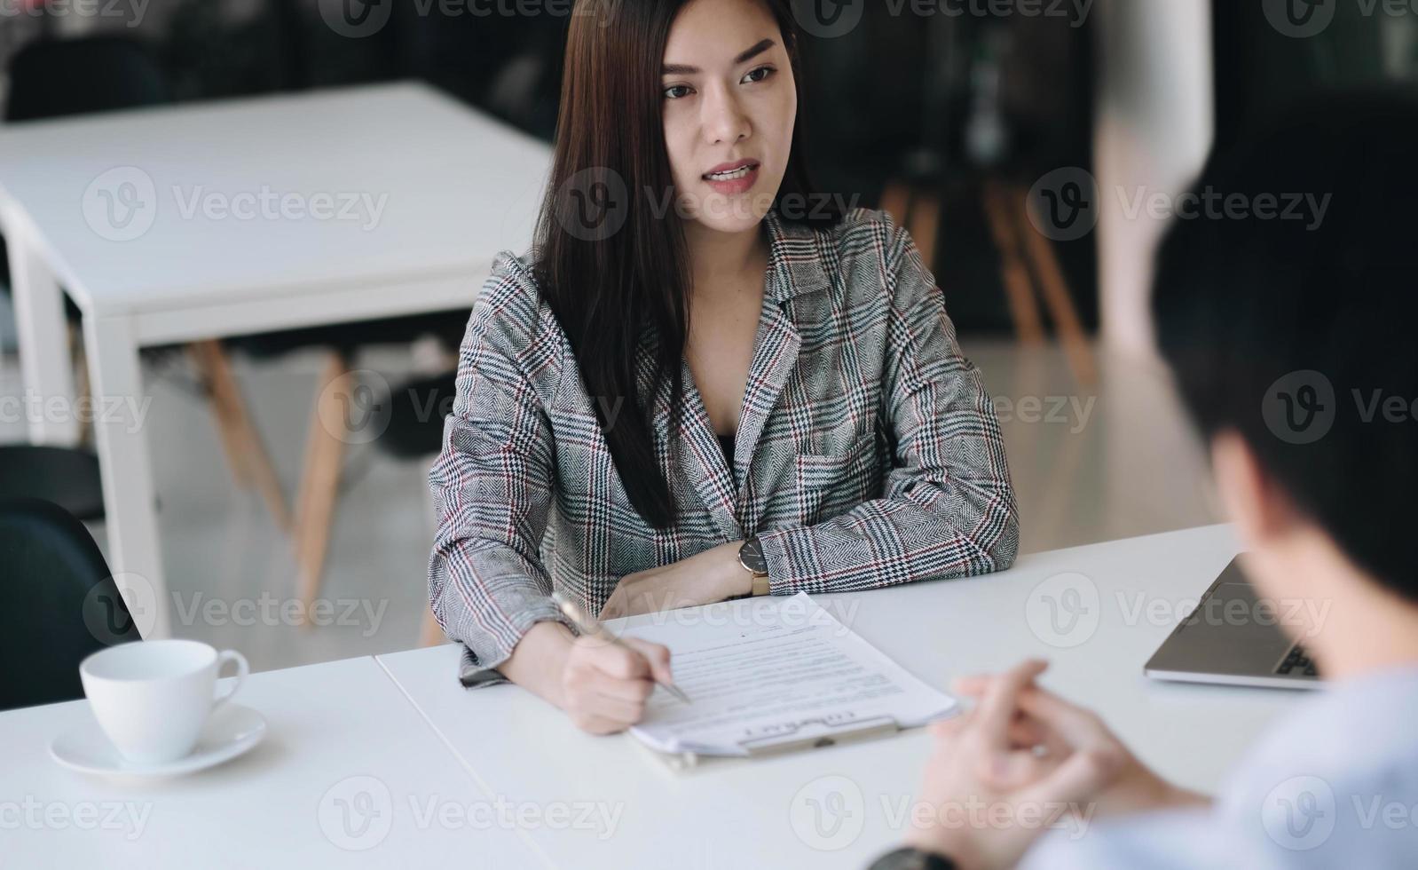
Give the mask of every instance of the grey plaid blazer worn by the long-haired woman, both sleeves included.
[[[440, 517], [430, 603], [476, 666], [496, 667], [539, 620], [564, 623], [553, 588], [596, 613], [620, 578], [753, 534], [774, 595], [1014, 561], [994, 406], [910, 236], [866, 209], [828, 230], [776, 211], [764, 221], [770, 265], [732, 466], [688, 362], [683, 426], [669, 430], [668, 379], [644, 403], [678, 511], [664, 531], [631, 507], [529, 261], [495, 260], [428, 475]], [[635, 349], [647, 399], [654, 351], [647, 329]]]

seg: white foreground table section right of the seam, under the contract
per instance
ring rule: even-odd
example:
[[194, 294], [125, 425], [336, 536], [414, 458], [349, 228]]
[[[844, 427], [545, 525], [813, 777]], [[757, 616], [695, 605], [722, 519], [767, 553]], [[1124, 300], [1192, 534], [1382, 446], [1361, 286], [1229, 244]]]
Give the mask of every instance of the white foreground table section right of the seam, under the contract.
[[[1235, 552], [1229, 527], [1208, 527], [1024, 556], [994, 576], [814, 598], [940, 688], [1048, 657], [1046, 685], [1103, 712], [1163, 775], [1214, 789], [1302, 693], [1161, 684], [1141, 667]], [[861, 869], [902, 839], [893, 817], [930, 751], [916, 729], [674, 773], [628, 735], [586, 735], [518, 687], [461, 688], [457, 660], [452, 644], [379, 657], [486, 789], [618, 813], [610, 837], [529, 830], [562, 867]]]

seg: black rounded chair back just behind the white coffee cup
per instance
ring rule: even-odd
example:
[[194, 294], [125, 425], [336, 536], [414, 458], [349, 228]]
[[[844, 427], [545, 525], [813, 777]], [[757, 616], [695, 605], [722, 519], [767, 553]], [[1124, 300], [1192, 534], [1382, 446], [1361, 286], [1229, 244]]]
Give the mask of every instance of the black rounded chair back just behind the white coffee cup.
[[64, 508], [0, 498], [0, 710], [84, 697], [79, 661], [142, 640], [94, 538]]

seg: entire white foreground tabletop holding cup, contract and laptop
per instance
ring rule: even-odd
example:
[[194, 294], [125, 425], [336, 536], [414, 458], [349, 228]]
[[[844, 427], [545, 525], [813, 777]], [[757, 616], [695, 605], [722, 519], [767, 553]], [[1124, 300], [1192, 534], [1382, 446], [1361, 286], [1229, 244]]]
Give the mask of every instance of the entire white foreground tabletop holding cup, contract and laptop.
[[[1235, 549], [1229, 528], [1210, 527], [815, 599], [940, 688], [1045, 656], [1049, 687], [1100, 711], [1163, 775], [1212, 789], [1302, 694], [1153, 683], [1141, 666]], [[676, 773], [519, 687], [462, 688], [457, 661], [448, 644], [254, 674], [240, 701], [265, 714], [267, 741], [167, 781], [52, 762], [48, 742], [91, 715], [84, 701], [0, 714], [0, 864], [861, 869], [902, 839], [930, 751], [915, 729]], [[342, 826], [362, 806], [379, 812]], [[116, 827], [92, 829], [112, 808]]]

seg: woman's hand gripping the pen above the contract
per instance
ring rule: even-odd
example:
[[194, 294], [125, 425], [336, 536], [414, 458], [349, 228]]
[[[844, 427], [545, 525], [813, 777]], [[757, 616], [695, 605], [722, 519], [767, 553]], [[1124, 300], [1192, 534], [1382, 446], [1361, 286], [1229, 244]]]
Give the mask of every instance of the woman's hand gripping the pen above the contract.
[[630, 637], [621, 644], [591, 636], [571, 642], [562, 668], [562, 708], [583, 731], [615, 734], [630, 728], [644, 718], [655, 681], [672, 681], [668, 649]]

